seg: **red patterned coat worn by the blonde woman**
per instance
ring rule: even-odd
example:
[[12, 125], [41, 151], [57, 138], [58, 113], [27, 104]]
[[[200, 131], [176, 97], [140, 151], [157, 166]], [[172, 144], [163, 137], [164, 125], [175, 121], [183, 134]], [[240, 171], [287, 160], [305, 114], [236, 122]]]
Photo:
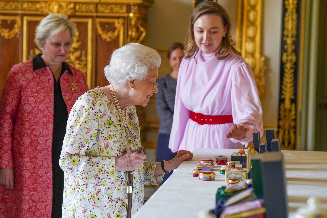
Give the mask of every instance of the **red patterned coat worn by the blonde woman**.
[[[0, 184], [0, 218], [51, 218], [54, 78], [48, 66], [35, 69], [35, 59], [11, 68], [2, 93], [0, 168], [13, 167], [15, 175], [13, 190]], [[80, 70], [63, 64], [69, 114], [89, 88]]]

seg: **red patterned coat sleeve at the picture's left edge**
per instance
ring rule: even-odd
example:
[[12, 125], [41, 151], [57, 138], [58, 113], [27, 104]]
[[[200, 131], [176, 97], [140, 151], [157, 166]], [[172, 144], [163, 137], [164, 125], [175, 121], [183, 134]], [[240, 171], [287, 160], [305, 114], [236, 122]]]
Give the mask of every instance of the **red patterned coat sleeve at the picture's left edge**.
[[0, 168], [13, 167], [12, 135], [20, 102], [21, 77], [18, 65], [10, 69], [0, 101]]

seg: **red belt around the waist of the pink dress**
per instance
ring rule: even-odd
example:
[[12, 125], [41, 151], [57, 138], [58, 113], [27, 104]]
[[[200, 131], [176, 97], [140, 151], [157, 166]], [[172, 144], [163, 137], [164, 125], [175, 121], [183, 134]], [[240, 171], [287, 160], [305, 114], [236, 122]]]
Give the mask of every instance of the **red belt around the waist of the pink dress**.
[[197, 122], [200, 125], [233, 123], [232, 115], [213, 116], [213, 115], [203, 115], [201, 113], [195, 113], [193, 111], [190, 111], [190, 118], [191, 120]]

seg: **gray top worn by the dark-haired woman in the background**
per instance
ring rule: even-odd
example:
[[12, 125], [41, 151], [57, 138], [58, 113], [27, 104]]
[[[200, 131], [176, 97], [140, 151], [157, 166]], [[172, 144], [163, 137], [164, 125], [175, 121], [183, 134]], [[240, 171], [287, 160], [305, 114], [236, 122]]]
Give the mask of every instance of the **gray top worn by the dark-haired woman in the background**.
[[177, 79], [167, 74], [158, 79], [159, 92], [156, 94], [157, 113], [160, 118], [159, 133], [170, 135], [173, 124]]

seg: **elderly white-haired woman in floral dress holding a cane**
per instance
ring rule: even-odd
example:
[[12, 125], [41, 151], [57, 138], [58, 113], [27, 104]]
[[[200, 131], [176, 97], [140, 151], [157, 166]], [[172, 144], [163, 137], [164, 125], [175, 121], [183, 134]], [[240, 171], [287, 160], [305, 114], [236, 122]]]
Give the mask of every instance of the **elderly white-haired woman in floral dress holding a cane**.
[[144, 184], [158, 185], [164, 173], [193, 154], [181, 150], [172, 160], [144, 162], [135, 105], [146, 106], [158, 92], [159, 53], [127, 44], [112, 53], [105, 76], [110, 85], [78, 98], [71, 110], [60, 156], [65, 171], [62, 217], [125, 217], [127, 171], [134, 171], [132, 215], [143, 205]]

